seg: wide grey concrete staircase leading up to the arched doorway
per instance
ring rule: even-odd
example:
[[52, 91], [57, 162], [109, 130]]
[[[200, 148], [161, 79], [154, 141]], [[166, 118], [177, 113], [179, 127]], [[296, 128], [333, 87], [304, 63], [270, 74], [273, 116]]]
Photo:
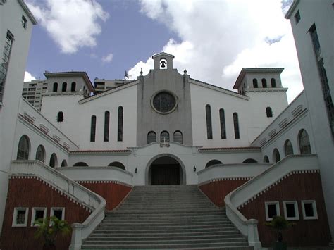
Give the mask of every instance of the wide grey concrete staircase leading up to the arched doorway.
[[82, 249], [253, 249], [197, 185], [135, 186]]

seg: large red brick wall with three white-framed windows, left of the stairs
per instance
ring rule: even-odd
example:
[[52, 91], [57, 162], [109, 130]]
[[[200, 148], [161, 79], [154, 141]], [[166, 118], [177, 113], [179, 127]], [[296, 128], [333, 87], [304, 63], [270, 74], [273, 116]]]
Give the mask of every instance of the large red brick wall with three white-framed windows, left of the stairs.
[[[27, 227], [12, 227], [13, 212], [16, 207], [29, 208]], [[47, 216], [50, 216], [51, 207], [64, 207], [65, 220], [72, 223], [82, 223], [89, 216], [89, 211], [70, 201], [37, 179], [16, 178], [9, 180], [6, 211], [1, 235], [1, 250], [39, 250], [43, 242], [34, 237], [36, 227], [31, 227], [33, 207], [47, 207]], [[58, 236], [56, 249], [68, 249], [70, 235]]]

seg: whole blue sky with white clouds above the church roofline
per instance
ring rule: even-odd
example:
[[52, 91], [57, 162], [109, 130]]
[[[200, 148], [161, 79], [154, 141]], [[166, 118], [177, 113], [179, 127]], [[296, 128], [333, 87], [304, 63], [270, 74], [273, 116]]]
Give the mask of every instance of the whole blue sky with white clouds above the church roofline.
[[[26, 0], [39, 21], [29, 74], [86, 71], [91, 80], [137, 78], [160, 51], [190, 77], [231, 89], [242, 68], [283, 67], [291, 101], [302, 90], [290, 0]], [[32, 79], [32, 78], [30, 78]]]

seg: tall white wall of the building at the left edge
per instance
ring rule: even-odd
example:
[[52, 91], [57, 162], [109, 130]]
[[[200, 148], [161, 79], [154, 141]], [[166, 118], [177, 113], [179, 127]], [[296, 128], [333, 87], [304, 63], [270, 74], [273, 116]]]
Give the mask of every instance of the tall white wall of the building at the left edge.
[[[22, 15], [25, 15], [27, 19], [26, 29], [21, 24]], [[0, 106], [0, 225], [2, 225], [4, 218], [8, 189], [8, 170], [10, 168], [14, 145], [16, 115], [18, 113], [18, 102], [22, 93], [32, 25], [32, 20], [30, 20], [18, 1], [7, 1], [6, 4], [0, 6], [1, 56], [4, 52], [7, 30], [10, 30], [15, 39], [8, 63], [3, 104]], [[0, 227], [0, 233], [1, 229], [2, 227]]]

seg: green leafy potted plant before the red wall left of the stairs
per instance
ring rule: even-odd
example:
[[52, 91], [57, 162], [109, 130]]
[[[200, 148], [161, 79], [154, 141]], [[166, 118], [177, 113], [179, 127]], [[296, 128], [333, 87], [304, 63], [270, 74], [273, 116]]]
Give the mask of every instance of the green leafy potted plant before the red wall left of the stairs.
[[66, 236], [70, 234], [71, 227], [65, 220], [59, 220], [56, 216], [39, 218], [35, 220], [37, 225], [35, 237], [44, 239], [43, 250], [56, 249], [56, 239], [59, 233]]

